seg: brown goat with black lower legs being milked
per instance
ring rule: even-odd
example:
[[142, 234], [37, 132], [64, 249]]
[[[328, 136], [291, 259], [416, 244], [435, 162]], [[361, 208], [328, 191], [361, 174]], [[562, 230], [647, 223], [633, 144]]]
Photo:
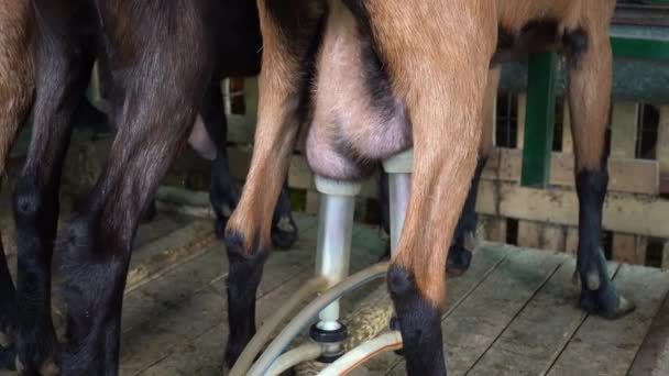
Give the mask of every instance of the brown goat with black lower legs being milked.
[[[300, 124], [311, 126], [311, 168], [338, 179], [359, 179], [370, 161], [413, 145], [412, 197], [388, 288], [408, 373], [446, 374], [439, 311], [443, 244], [465, 202], [478, 151], [484, 156], [492, 146], [482, 124], [492, 111], [496, 65], [553, 49], [569, 62], [581, 307], [606, 318], [634, 308], [611, 284], [600, 251], [614, 0], [260, 0], [259, 5], [264, 38], [259, 122], [249, 179], [227, 231], [229, 252], [239, 254], [231, 259], [229, 290], [239, 294], [229, 296], [230, 306], [245, 301], [244, 314], [253, 317], [248, 299], [268, 251], [271, 209], [283, 177], [277, 172], [287, 168]], [[304, 93], [312, 78], [309, 110]], [[233, 330], [229, 363], [250, 334]]]

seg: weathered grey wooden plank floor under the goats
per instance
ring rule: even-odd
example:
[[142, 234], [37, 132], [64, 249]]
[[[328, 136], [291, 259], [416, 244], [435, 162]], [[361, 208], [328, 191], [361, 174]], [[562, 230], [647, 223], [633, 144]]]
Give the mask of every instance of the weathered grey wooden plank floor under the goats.
[[[274, 253], [265, 267], [259, 322], [312, 275], [317, 223], [299, 214], [297, 221], [296, 246]], [[207, 220], [161, 213], [140, 229], [123, 309], [121, 375], [221, 374], [227, 258], [211, 228]], [[379, 261], [384, 243], [377, 230], [358, 225], [353, 250], [354, 272]], [[450, 375], [669, 375], [669, 274], [611, 264], [616, 286], [638, 309], [606, 321], [575, 307], [573, 270], [566, 254], [482, 245], [471, 269], [448, 281], [442, 329]], [[343, 308], [354, 309], [376, 286], [347, 297]], [[404, 375], [405, 365], [383, 354], [354, 374]]]

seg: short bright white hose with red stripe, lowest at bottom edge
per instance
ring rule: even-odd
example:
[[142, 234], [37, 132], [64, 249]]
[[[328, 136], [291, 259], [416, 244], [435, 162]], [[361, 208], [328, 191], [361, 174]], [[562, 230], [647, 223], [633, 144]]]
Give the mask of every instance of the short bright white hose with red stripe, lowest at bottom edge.
[[381, 334], [346, 353], [342, 357], [321, 371], [318, 376], [346, 375], [353, 368], [383, 352], [399, 349], [402, 349], [402, 334], [398, 331]]

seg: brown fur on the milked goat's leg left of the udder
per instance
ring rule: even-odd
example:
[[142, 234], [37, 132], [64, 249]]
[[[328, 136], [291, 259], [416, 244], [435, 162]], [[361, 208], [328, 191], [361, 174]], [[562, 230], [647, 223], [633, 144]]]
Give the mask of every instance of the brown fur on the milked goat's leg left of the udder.
[[[293, 151], [299, 130], [299, 77], [300, 62], [305, 56], [289, 54], [292, 43], [308, 43], [316, 32], [315, 21], [325, 12], [318, 1], [295, 1], [289, 4], [292, 16], [305, 20], [304, 30], [297, 35], [306, 40], [289, 40], [279, 20], [272, 14], [267, 1], [259, 1], [261, 31], [263, 34], [263, 68], [260, 75], [260, 103], [255, 131], [255, 148], [251, 168], [239, 206], [230, 217], [228, 229], [244, 234], [244, 250], [254, 252], [252, 245], [260, 239], [262, 246], [270, 245], [272, 211], [288, 169], [288, 155]], [[266, 219], [266, 221], [265, 221]]]

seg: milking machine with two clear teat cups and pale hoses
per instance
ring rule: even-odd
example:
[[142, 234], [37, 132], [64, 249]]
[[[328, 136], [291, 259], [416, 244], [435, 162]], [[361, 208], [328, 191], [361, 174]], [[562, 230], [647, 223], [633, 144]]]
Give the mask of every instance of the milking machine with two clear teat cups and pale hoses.
[[[412, 164], [412, 150], [383, 163], [388, 174], [393, 255], [397, 252], [408, 206]], [[361, 331], [363, 334], [349, 335], [349, 330], [357, 331], [358, 328], [348, 329], [340, 320], [339, 298], [366, 283], [384, 277], [388, 267], [388, 263], [380, 263], [348, 276], [355, 196], [360, 193], [361, 184], [317, 176], [316, 188], [321, 193], [316, 276], [296, 291], [257, 331], [230, 371], [231, 376], [279, 375], [297, 364], [315, 360], [327, 365], [319, 375], [343, 375], [381, 352], [402, 347], [402, 336], [397, 331], [386, 331], [376, 336], [388, 328], [388, 318], [392, 314], [390, 299], [386, 299], [385, 305], [381, 305], [383, 307], [373, 308], [383, 312], [373, 312], [376, 323], [372, 325], [374, 328], [364, 328]], [[385, 286], [382, 288], [385, 290]], [[301, 301], [317, 294], [318, 297], [283, 328], [253, 363], [278, 325]], [[380, 317], [385, 320], [379, 320]], [[310, 340], [282, 355], [293, 339], [315, 320], [316, 323], [309, 329]], [[364, 338], [360, 338], [361, 335]], [[351, 338], [357, 342], [351, 342]]]

